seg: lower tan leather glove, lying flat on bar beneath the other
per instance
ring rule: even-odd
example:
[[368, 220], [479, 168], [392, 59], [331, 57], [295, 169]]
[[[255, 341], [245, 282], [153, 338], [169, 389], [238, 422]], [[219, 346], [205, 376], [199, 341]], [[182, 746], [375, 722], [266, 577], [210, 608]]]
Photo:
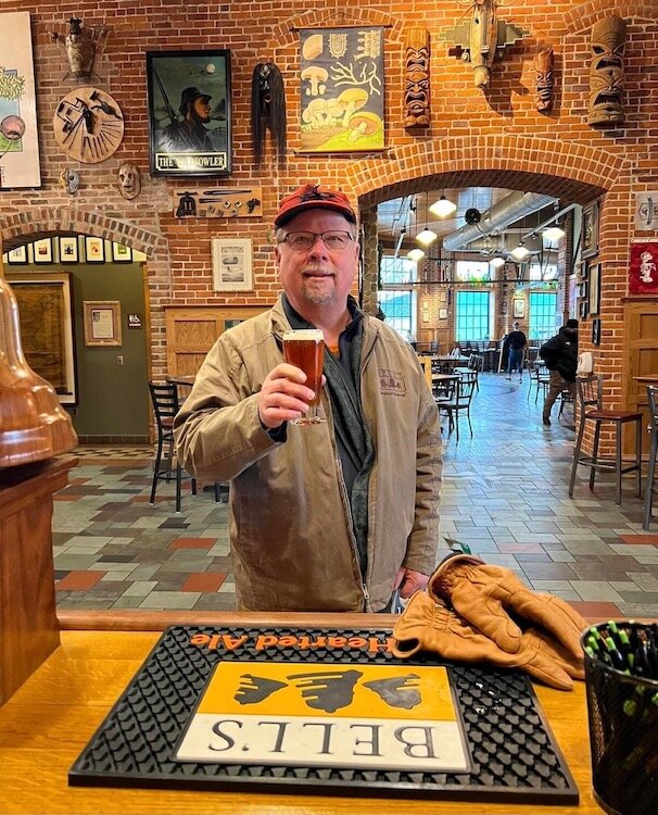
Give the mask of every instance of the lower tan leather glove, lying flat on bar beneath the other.
[[432, 651], [454, 662], [489, 662], [503, 668], [521, 668], [535, 679], [558, 690], [571, 690], [571, 677], [582, 679], [583, 661], [568, 654], [551, 638], [527, 631], [515, 654], [499, 649], [493, 640], [460, 619], [452, 609], [417, 591], [395, 623], [393, 653], [405, 659], [418, 651]]

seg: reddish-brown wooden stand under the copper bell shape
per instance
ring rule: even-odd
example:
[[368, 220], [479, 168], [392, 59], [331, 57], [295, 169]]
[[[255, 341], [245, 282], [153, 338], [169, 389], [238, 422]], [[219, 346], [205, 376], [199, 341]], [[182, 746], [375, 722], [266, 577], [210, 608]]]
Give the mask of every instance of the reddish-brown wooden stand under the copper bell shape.
[[0, 706], [60, 644], [52, 497], [76, 462], [0, 469]]

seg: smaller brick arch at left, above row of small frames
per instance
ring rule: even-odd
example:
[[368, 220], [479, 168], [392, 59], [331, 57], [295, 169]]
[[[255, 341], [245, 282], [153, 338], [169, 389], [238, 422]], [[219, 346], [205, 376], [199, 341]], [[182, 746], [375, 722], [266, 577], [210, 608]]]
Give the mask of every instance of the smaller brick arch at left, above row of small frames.
[[38, 206], [0, 218], [3, 251], [26, 242], [27, 238], [38, 240], [66, 233], [93, 235], [124, 243], [143, 252], [147, 258], [167, 251], [166, 241], [161, 235], [98, 212]]

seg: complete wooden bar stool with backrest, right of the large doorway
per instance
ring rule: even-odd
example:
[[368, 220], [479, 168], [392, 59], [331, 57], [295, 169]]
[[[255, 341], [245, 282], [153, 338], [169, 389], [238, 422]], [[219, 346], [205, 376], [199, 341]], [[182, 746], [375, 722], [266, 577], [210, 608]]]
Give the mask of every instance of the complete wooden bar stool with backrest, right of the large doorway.
[[[578, 377], [575, 380], [578, 392], [578, 403], [580, 413], [580, 427], [578, 438], [573, 449], [573, 465], [571, 467], [571, 480], [569, 482], [569, 496], [573, 496], [573, 485], [575, 482], [575, 471], [578, 465], [582, 464], [590, 467], [590, 489], [594, 489], [594, 478], [596, 471], [613, 472], [617, 477], [617, 498], [615, 503], [621, 503], [621, 476], [624, 473], [635, 472], [636, 494], [640, 497], [641, 466], [642, 466], [642, 413], [636, 411], [609, 411], [603, 406], [603, 374]], [[592, 455], [586, 455], [581, 451], [585, 425], [587, 422], [594, 423], [594, 446]], [[623, 425], [629, 422], [635, 423], [635, 462], [628, 467], [621, 466], [621, 436]], [[611, 424], [616, 431], [616, 451], [615, 459], [598, 457], [598, 439], [600, 436], [602, 425]]]

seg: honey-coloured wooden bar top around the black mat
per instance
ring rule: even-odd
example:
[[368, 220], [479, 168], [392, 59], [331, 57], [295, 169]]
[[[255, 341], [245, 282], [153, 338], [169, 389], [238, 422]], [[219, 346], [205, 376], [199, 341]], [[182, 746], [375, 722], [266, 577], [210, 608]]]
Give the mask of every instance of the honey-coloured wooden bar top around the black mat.
[[[76, 623], [76, 614], [78, 619]], [[139, 614], [62, 614], [71, 625], [109, 628], [138, 625]], [[119, 622], [116, 622], [116, 620]], [[301, 625], [340, 625], [381, 627], [393, 622], [389, 615], [257, 615], [191, 614], [173, 612], [141, 615], [142, 628], [165, 624], [199, 624], [201, 620], [223, 627]], [[351, 797], [350, 788], [341, 797], [271, 794], [268, 791], [197, 792], [128, 788], [68, 787], [67, 773], [96, 728], [126, 688], [159, 634], [153, 630], [63, 630], [62, 645], [0, 709], [0, 812], [75, 813], [109, 815], [143, 813], [175, 815], [190, 813], [240, 813], [240, 815], [600, 815], [592, 798], [590, 742], [585, 692], [582, 682], [564, 693], [535, 686], [553, 732], [580, 789], [580, 806], [537, 804], [493, 804], [446, 802], [441, 800], [374, 799]]]

